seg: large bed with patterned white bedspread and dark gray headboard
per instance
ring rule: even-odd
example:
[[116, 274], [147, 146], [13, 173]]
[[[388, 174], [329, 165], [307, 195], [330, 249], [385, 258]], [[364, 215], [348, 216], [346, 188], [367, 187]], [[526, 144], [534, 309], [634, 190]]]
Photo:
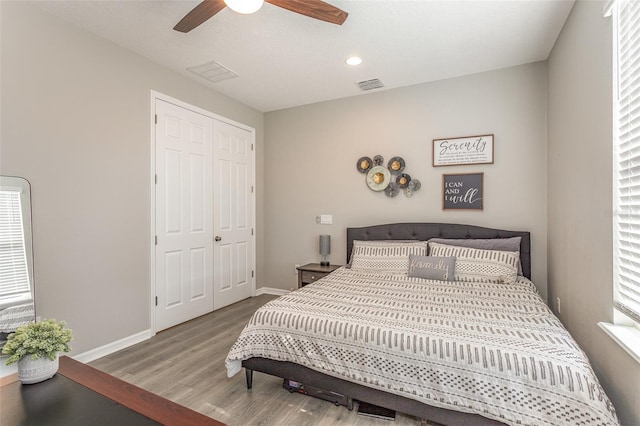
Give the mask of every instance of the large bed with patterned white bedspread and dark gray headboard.
[[[449, 240], [430, 243], [433, 254], [458, 255], [438, 257], [456, 259], [456, 281], [397, 273], [402, 256], [376, 257], [389, 246], [420, 254], [415, 247], [433, 238]], [[517, 274], [509, 250], [455, 248], [452, 239], [517, 241]], [[468, 253], [506, 259], [509, 272], [497, 282], [465, 276], [465, 265], [475, 268]], [[249, 389], [259, 371], [344, 395], [349, 408], [357, 400], [444, 425], [619, 424], [585, 354], [529, 280], [528, 232], [348, 228], [347, 265], [260, 308], [229, 352], [228, 375], [244, 367]]]

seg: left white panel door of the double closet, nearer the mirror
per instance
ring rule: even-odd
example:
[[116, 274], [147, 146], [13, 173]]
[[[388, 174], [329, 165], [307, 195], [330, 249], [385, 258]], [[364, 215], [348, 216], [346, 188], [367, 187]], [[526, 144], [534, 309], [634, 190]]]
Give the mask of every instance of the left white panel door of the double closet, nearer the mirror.
[[213, 310], [213, 119], [156, 99], [156, 331]]

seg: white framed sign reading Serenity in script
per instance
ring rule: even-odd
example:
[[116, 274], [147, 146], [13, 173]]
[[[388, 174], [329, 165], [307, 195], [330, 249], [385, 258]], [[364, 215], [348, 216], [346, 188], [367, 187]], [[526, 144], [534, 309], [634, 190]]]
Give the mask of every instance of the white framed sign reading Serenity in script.
[[433, 167], [493, 164], [493, 135], [433, 140]]

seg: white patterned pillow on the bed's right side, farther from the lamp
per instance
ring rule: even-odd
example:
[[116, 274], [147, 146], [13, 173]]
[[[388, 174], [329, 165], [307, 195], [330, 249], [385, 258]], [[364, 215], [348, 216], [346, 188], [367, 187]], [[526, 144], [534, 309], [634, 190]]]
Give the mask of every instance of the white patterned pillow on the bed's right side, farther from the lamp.
[[455, 256], [455, 281], [513, 284], [518, 277], [520, 252], [481, 250], [429, 243], [432, 256]]

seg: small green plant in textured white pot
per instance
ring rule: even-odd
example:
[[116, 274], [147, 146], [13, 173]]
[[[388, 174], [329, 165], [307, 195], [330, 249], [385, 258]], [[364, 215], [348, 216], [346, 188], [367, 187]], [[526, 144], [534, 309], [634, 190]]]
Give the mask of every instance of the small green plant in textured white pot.
[[58, 371], [58, 355], [69, 352], [71, 330], [64, 321], [54, 319], [32, 322], [7, 336], [2, 348], [9, 355], [6, 365], [18, 363], [18, 378], [24, 384], [38, 383]]

